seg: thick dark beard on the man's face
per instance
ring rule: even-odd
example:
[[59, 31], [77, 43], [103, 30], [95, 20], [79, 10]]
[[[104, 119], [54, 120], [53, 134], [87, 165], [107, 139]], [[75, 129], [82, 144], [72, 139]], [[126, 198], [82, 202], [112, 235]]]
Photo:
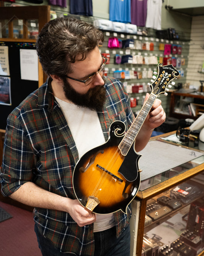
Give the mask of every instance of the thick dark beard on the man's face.
[[66, 78], [63, 79], [63, 82], [63, 90], [66, 98], [75, 105], [96, 111], [100, 111], [103, 108], [106, 100], [106, 89], [104, 86], [97, 85], [94, 88], [90, 88], [85, 94], [81, 94], [73, 89]]

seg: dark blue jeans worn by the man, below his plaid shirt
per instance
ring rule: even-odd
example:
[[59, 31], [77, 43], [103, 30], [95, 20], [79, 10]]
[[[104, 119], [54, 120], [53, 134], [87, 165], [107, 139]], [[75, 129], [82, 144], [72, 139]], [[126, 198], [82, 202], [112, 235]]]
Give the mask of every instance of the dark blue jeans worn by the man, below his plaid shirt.
[[[73, 253], [61, 253], [50, 240], [44, 238], [35, 224], [35, 232], [38, 238], [42, 256], [66, 256]], [[119, 238], [116, 238], [116, 228], [94, 233], [95, 256], [130, 256], [130, 226], [128, 225]]]

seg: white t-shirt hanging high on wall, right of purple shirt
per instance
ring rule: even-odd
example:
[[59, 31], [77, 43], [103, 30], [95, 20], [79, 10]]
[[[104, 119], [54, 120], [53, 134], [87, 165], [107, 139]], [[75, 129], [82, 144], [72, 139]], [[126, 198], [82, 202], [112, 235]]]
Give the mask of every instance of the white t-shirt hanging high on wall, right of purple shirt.
[[161, 30], [162, 26], [162, 0], [147, 0], [147, 28]]

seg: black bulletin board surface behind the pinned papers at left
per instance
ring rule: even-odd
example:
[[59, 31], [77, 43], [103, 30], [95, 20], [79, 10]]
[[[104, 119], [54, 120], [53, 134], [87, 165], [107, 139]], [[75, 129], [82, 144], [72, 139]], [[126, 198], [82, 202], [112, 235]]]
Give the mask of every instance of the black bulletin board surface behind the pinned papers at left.
[[[21, 79], [20, 49], [35, 50], [35, 43], [26, 42], [0, 42], [0, 46], [8, 46], [8, 61], [10, 75], [11, 105], [0, 105], [0, 129], [5, 130], [7, 117], [11, 111], [23, 101], [26, 96], [38, 88], [38, 81]], [[37, 78], [38, 80], [38, 78]]]

